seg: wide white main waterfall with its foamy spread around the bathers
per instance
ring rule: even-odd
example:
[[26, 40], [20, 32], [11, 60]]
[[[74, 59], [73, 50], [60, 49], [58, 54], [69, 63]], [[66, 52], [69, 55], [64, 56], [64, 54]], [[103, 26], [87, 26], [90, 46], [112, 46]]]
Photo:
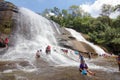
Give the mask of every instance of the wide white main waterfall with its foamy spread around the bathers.
[[[13, 35], [14, 47], [9, 48], [2, 59], [17, 60], [22, 58], [32, 62], [35, 60], [36, 51], [42, 49], [41, 58], [49, 63], [76, 64], [75, 61], [64, 56], [61, 48], [57, 45], [53, 31], [53, 27], [56, 28], [55, 23], [53, 24], [26, 8], [19, 9], [16, 20], [17, 29]], [[47, 45], [50, 45], [52, 49], [56, 48], [57, 52], [52, 50], [51, 55], [47, 56], [45, 53]]]

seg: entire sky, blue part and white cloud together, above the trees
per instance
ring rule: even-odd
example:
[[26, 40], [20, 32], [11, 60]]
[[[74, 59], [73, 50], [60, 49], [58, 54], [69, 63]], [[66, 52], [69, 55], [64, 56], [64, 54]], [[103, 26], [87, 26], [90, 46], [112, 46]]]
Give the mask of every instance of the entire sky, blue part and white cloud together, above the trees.
[[[59, 9], [68, 9], [71, 5], [78, 5], [84, 11], [90, 13], [93, 17], [100, 14], [101, 6], [103, 4], [117, 5], [120, 0], [5, 0], [12, 2], [18, 7], [25, 7], [34, 12], [43, 12], [45, 9], [57, 7]], [[114, 18], [118, 13], [114, 13], [111, 18]]]

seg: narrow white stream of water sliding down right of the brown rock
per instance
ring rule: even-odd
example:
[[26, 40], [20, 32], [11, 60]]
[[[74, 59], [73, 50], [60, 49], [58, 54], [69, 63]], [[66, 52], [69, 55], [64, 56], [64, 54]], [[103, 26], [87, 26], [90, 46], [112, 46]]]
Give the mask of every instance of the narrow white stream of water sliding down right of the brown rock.
[[69, 28], [66, 28], [66, 30], [68, 30], [78, 41], [85, 42], [86, 44], [90, 45], [99, 55], [105, 54], [105, 51], [103, 49], [87, 41], [80, 33]]

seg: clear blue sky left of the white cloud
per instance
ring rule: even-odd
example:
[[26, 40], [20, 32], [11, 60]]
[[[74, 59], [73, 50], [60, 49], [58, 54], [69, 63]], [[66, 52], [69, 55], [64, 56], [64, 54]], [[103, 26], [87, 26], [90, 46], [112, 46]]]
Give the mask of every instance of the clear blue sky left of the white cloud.
[[67, 9], [71, 5], [80, 5], [83, 3], [91, 3], [95, 0], [5, 0], [14, 3], [19, 7], [26, 7], [35, 12], [42, 12], [45, 9], [57, 7], [59, 9]]

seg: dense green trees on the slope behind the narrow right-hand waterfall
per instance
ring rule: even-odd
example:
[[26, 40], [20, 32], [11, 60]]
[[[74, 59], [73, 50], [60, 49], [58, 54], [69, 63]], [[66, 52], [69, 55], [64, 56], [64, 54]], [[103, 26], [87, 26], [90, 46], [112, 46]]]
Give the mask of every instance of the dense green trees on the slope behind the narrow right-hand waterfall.
[[94, 18], [79, 6], [72, 5], [68, 10], [60, 10], [57, 7], [45, 9], [42, 14], [63, 27], [73, 28], [87, 34], [88, 40], [117, 54], [120, 52], [120, 14], [116, 19], [109, 17], [111, 13], [116, 11], [120, 12], [120, 5], [104, 4], [99, 17]]

